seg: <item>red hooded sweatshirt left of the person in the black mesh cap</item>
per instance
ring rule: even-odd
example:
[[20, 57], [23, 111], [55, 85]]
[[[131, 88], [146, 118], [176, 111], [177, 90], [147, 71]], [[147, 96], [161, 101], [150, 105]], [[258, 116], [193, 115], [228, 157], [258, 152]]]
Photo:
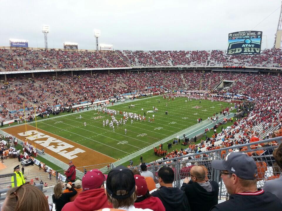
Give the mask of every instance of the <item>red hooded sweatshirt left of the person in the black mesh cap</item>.
[[108, 205], [104, 188], [82, 191], [73, 202], [67, 203], [62, 211], [93, 211], [103, 208], [113, 208]]

